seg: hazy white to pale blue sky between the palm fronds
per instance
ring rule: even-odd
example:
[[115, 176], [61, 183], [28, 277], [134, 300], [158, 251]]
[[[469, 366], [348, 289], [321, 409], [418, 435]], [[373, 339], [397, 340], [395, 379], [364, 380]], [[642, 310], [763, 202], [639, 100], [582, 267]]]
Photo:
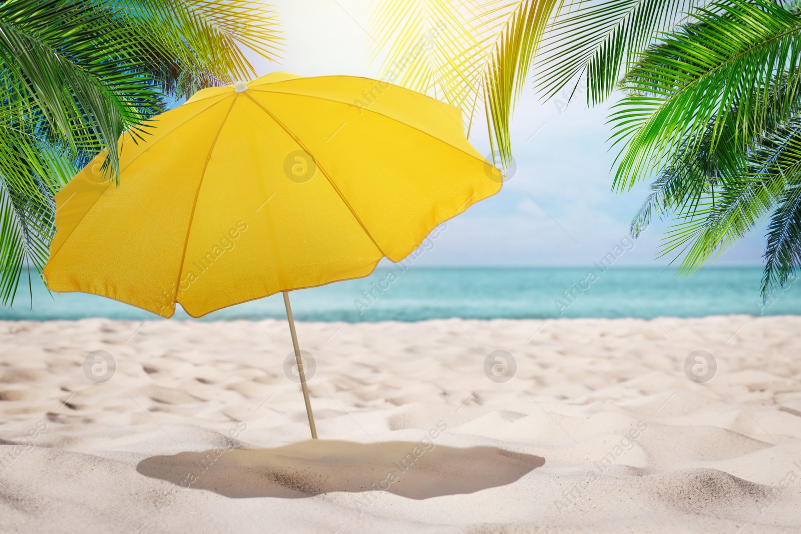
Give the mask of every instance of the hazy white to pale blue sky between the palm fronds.
[[[367, 0], [272, 3], [285, 49], [280, 63], [248, 54], [258, 74], [377, 76], [378, 65], [368, 64]], [[582, 98], [567, 107], [558, 98], [542, 102], [529, 81], [511, 125], [517, 171], [499, 194], [449, 221], [419, 265], [582, 267], [611, 251], [627, 235], [647, 184], [624, 194], [610, 191], [616, 151], [606, 143], [608, 113], [607, 106], [588, 109]], [[473, 129], [470, 141], [489, 154], [483, 126]], [[666, 227], [649, 227], [619, 265], [666, 266], [672, 258], [657, 257]], [[759, 228], [715, 265], [761, 265], [763, 249]]]

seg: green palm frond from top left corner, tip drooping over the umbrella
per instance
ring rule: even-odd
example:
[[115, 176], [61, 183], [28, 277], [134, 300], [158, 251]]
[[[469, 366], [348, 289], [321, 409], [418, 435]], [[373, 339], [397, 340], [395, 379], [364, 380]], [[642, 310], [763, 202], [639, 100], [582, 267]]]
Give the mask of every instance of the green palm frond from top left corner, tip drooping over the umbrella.
[[[100, 42], [125, 50], [130, 41], [119, 21], [89, 2], [10, 0], [0, 10], [6, 82], [21, 86], [44, 115], [50, 135], [73, 151], [99, 151], [159, 109], [160, 96], [144, 62], [135, 56], [109, 61], [99, 54]], [[116, 174], [116, 151], [110, 151], [109, 164]]]

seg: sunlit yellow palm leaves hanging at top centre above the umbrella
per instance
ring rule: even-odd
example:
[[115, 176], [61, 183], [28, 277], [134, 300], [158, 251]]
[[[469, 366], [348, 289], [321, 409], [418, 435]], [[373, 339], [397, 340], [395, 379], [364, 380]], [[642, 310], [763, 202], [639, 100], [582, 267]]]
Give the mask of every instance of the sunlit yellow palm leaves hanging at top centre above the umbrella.
[[[489, 140], [511, 157], [509, 118], [557, 0], [384, 0], [368, 30], [380, 77], [486, 114]], [[482, 102], [483, 101], [483, 102]]]

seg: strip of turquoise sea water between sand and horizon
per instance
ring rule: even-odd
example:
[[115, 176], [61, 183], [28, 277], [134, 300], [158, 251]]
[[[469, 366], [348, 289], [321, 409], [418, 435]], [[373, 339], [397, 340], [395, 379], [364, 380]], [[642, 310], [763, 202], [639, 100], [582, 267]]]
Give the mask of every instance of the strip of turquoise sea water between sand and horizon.
[[[586, 268], [426, 268], [378, 269], [365, 279], [292, 292], [298, 320], [417, 321], [422, 319], [523, 319], [556, 317], [699, 317], [720, 314], [801, 315], [801, 291], [787, 291], [761, 310], [760, 267], [713, 267], [690, 278], [662, 268], [596, 269], [590, 282]], [[390, 274], [392, 273], [392, 274]], [[375, 284], [375, 285], [373, 285]], [[577, 290], [572, 288], [576, 284]], [[383, 289], [382, 289], [383, 287]], [[582, 293], [580, 290], [582, 287]], [[365, 296], [364, 291], [372, 291]], [[563, 292], [572, 291], [566, 299]], [[560, 302], [555, 302], [560, 299]], [[34, 287], [30, 309], [27, 287], [14, 308], [0, 319], [158, 319], [123, 303], [78, 293], [52, 295]], [[283, 319], [280, 295], [215, 311], [198, 320]], [[191, 319], [179, 310], [175, 319]]]

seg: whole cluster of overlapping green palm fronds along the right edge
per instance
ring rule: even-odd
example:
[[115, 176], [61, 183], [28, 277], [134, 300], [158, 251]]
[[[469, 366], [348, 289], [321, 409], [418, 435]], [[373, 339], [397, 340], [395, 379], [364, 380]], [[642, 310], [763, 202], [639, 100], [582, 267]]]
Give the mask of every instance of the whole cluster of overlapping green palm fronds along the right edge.
[[[672, 216], [660, 255], [680, 275], [770, 218], [763, 296], [799, 266], [801, 19], [764, 0], [698, 10], [626, 76], [612, 115], [615, 186], [660, 173], [632, 230]], [[772, 215], [771, 215], [772, 214]]]

